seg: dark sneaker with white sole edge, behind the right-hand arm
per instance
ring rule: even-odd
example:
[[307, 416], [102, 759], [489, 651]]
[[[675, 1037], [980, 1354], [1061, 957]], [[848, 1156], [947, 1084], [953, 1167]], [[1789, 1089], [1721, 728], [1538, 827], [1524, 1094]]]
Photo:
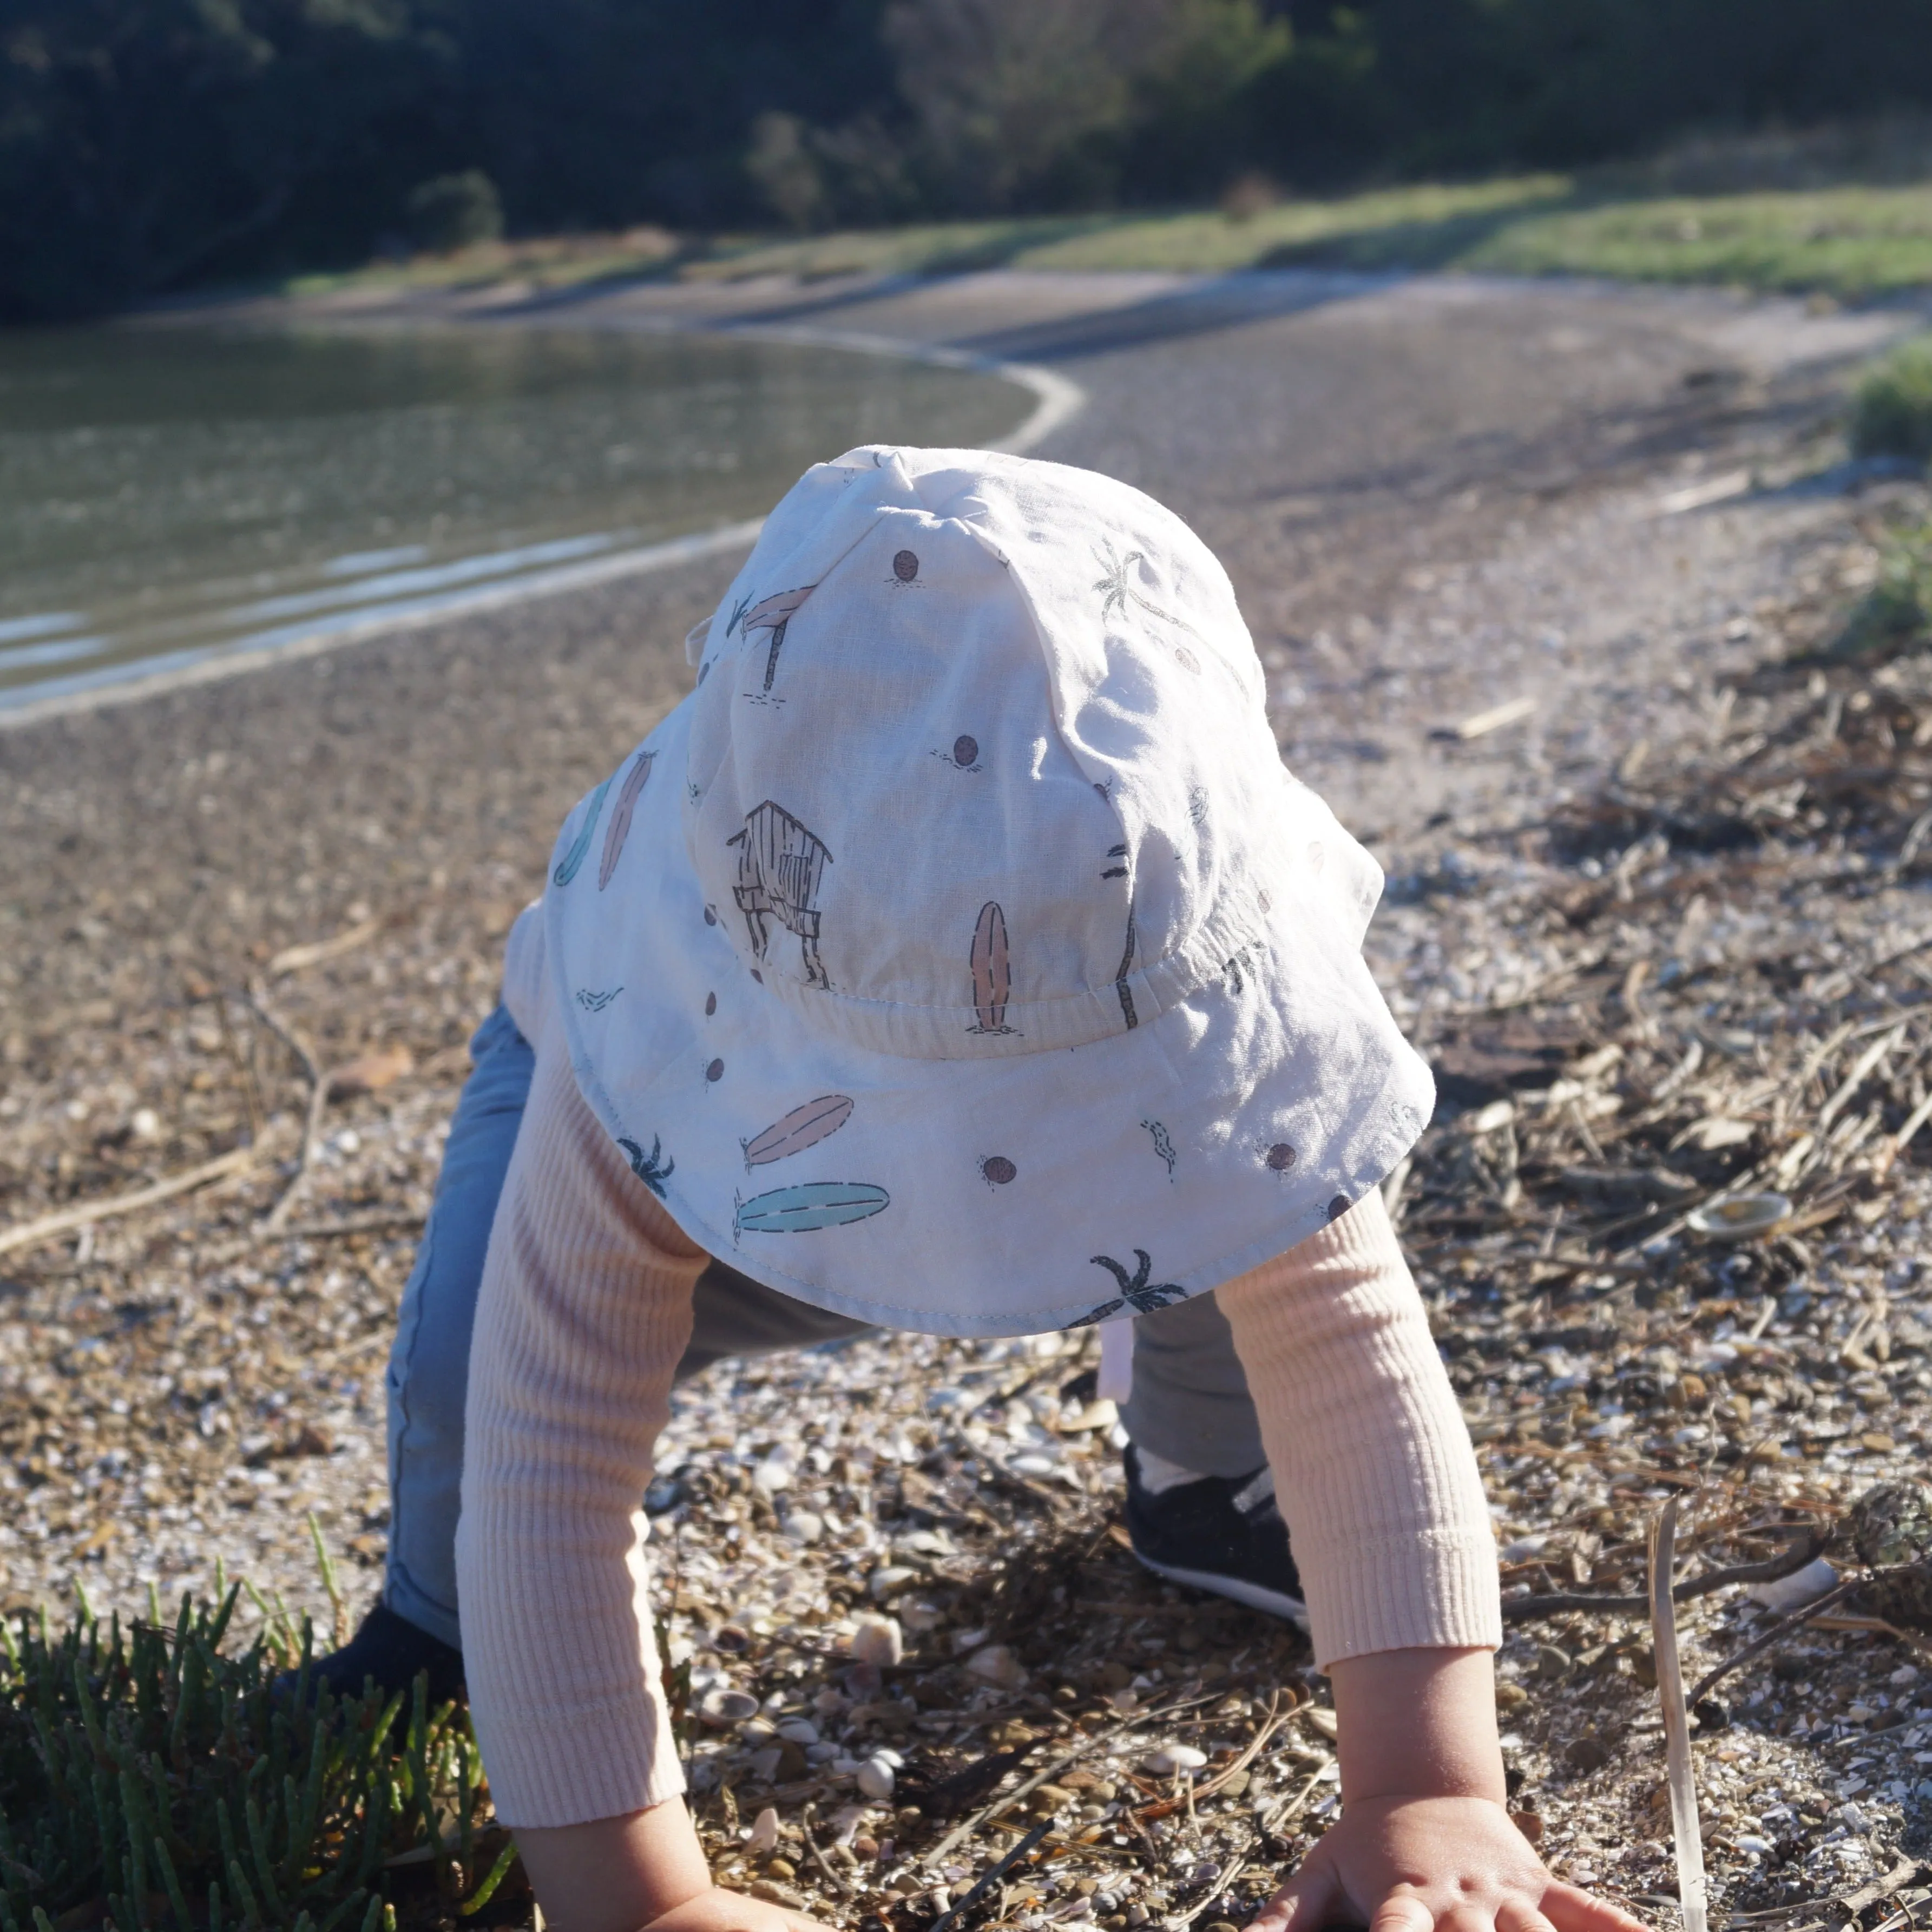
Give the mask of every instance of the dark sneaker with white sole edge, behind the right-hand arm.
[[1146, 1569], [1306, 1627], [1302, 1578], [1265, 1463], [1252, 1476], [1196, 1476], [1159, 1495], [1142, 1484], [1132, 1443], [1124, 1463], [1126, 1534]]

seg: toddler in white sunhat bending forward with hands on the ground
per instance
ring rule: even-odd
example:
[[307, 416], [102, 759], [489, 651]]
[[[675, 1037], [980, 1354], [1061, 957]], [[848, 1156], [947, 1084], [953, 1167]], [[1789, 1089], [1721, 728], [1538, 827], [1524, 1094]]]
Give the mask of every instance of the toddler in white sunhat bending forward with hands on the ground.
[[[692, 649], [508, 945], [473, 1341], [423, 1293], [452, 1136], [392, 1381], [388, 1615], [460, 1634], [545, 1913], [806, 1924], [715, 1888], [682, 1803], [639, 1507], [680, 1370], [1136, 1320], [1136, 1549], [1304, 1600], [1333, 1677], [1345, 1810], [1264, 1932], [1633, 1932], [1503, 1808], [1490, 1517], [1378, 1192], [1430, 1078], [1360, 958], [1379, 875], [1283, 771], [1213, 556], [1099, 475], [862, 448]], [[444, 1397], [412, 1451], [433, 1327], [468, 1424]]]

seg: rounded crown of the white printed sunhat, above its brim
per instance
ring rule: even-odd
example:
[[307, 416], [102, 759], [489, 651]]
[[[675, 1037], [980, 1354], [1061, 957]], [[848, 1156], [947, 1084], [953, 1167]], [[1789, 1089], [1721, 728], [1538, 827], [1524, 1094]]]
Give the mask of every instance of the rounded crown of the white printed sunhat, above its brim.
[[1146, 1024], [1279, 891], [1225, 572], [1092, 471], [860, 448], [784, 497], [701, 645], [684, 833], [800, 1018], [966, 1059]]

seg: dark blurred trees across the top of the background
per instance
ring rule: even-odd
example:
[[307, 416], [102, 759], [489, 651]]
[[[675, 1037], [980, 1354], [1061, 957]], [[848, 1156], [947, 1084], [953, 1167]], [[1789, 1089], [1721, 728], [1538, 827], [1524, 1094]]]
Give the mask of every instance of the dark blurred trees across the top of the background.
[[1932, 0], [0, 0], [0, 317], [516, 232], [1627, 155], [1932, 102]]

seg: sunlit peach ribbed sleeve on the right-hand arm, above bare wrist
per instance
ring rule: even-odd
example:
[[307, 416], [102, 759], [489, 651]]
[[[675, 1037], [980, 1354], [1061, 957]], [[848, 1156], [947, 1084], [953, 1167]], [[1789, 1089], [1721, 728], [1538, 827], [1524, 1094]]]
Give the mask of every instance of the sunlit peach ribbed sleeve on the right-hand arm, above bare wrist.
[[1503, 1640], [1495, 1532], [1422, 1296], [1374, 1188], [1223, 1283], [1316, 1662]]

